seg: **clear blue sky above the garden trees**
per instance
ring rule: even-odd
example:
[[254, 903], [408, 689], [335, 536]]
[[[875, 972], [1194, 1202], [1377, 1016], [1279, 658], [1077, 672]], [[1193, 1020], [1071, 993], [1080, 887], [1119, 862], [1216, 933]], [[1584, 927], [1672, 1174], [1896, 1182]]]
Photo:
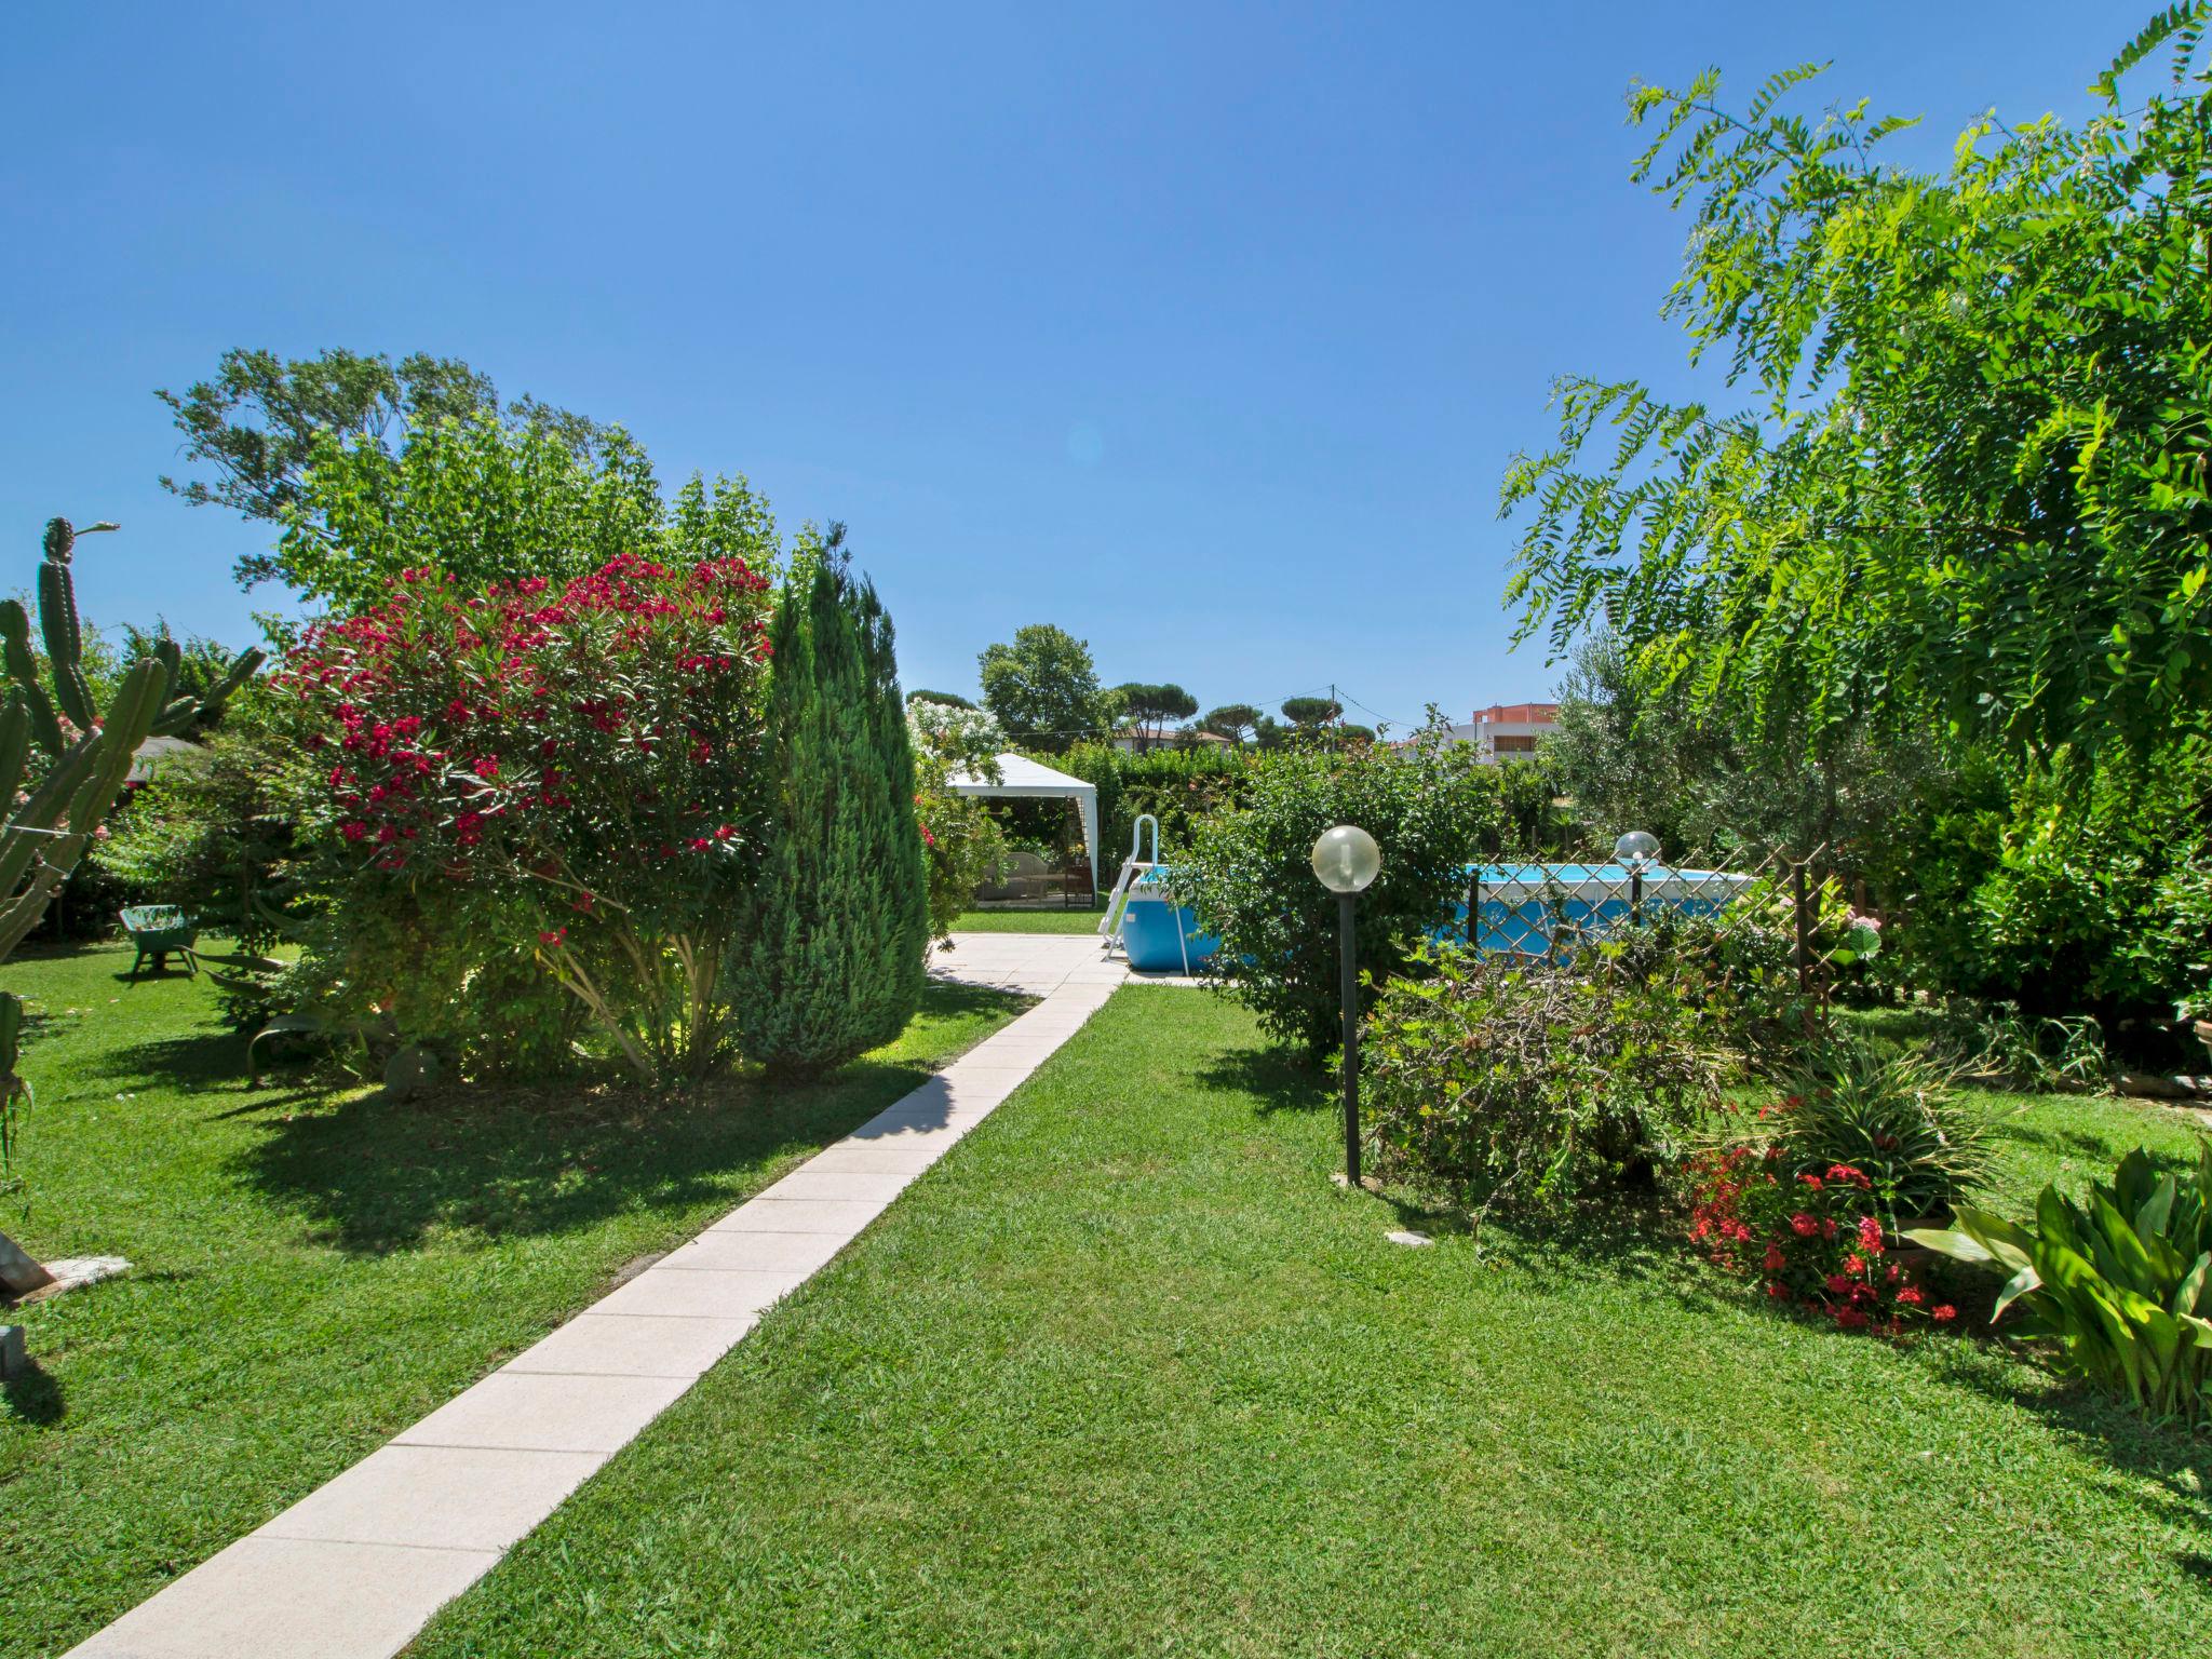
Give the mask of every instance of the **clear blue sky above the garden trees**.
[[[462, 356], [664, 480], [843, 518], [909, 686], [1024, 622], [1203, 703], [1460, 719], [1506, 655], [1498, 476], [1559, 372], [1681, 389], [1632, 77], [2079, 113], [2081, 4], [15, 4], [0, 586], [250, 635], [261, 531], [155, 487], [228, 345]], [[9, 575], [13, 571], [13, 575]]]

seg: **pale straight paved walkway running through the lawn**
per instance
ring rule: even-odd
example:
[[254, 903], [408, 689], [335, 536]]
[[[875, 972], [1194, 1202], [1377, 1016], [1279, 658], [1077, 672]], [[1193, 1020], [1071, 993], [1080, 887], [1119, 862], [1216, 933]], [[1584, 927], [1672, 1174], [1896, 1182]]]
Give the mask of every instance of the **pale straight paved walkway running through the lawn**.
[[1130, 978], [1093, 936], [1037, 933], [962, 933], [931, 971], [1044, 1000], [71, 1659], [398, 1652]]

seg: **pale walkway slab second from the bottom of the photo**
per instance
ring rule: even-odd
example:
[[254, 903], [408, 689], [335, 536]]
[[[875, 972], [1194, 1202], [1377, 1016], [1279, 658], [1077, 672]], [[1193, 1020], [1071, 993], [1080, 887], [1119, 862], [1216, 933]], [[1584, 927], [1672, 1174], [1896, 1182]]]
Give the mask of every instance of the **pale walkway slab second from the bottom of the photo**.
[[606, 1462], [604, 1451], [383, 1447], [257, 1537], [504, 1551]]

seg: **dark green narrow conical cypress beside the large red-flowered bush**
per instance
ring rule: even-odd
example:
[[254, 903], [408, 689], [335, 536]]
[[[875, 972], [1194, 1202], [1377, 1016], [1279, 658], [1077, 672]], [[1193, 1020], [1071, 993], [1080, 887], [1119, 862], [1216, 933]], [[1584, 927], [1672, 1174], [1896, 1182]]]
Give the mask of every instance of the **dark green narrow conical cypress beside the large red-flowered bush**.
[[726, 991], [743, 1053], [812, 1075], [891, 1042], [922, 1002], [929, 876], [891, 619], [845, 560], [810, 560], [774, 624], [776, 799]]

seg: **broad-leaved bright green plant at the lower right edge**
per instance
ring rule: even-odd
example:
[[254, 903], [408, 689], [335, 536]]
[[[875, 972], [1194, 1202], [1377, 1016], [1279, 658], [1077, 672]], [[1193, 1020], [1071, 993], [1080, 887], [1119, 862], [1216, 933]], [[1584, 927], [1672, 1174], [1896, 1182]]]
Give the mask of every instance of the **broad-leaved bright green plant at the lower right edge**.
[[2088, 1203], [2046, 1186], [2033, 1230], [1960, 1206], [1955, 1228], [1905, 1237], [2011, 1274], [1995, 1316], [2020, 1303], [2068, 1376], [2154, 1416], [2212, 1411], [2212, 1141], [2179, 1181], [2137, 1148]]

